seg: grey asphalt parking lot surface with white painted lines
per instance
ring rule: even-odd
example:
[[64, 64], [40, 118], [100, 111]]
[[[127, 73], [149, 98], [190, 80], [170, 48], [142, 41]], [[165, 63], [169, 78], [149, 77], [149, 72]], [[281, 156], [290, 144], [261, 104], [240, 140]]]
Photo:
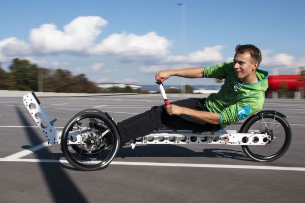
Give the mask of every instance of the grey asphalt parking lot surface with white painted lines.
[[[84, 109], [119, 122], [163, 104], [160, 95], [40, 100], [58, 131]], [[146, 145], [120, 149], [104, 170], [80, 172], [58, 162], [65, 158], [57, 145], [41, 145], [45, 137], [22, 98], [1, 97], [0, 202], [304, 202], [305, 100], [266, 99], [264, 110], [285, 114], [292, 129], [290, 148], [276, 161], [252, 161], [239, 146]]]

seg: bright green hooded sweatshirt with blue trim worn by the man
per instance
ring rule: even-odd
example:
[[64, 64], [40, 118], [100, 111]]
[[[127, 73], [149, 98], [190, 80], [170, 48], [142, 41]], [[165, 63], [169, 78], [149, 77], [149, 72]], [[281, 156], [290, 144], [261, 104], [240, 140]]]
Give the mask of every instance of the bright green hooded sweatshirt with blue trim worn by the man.
[[265, 91], [268, 88], [268, 72], [257, 69], [257, 83], [242, 83], [234, 71], [234, 63], [226, 62], [204, 68], [204, 77], [225, 79], [218, 93], [210, 94], [204, 107], [220, 114], [220, 125], [225, 128], [236, 121], [261, 111], [265, 100]]

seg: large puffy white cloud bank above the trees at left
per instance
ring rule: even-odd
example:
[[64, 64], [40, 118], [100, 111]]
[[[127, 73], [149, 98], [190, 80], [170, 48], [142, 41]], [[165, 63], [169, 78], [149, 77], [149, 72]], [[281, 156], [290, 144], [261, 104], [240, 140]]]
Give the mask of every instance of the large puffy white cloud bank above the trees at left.
[[[29, 31], [29, 44], [17, 38], [0, 41], [0, 57], [17, 55], [115, 55], [124, 60], [161, 58], [169, 54], [171, 42], [156, 32], [145, 35], [113, 33], [99, 43], [107, 20], [99, 16], [80, 16], [65, 25], [42, 24]], [[56, 66], [56, 63], [55, 63]]]

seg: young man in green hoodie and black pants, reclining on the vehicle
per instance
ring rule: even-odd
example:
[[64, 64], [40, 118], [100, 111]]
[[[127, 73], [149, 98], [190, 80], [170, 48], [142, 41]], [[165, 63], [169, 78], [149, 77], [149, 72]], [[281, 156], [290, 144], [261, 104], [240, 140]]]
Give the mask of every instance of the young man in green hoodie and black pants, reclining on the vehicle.
[[254, 45], [237, 45], [233, 62], [190, 69], [159, 71], [156, 80], [171, 76], [225, 79], [218, 93], [207, 98], [178, 100], [117, 123], [120, 142], [146, 136], [162, 127], [177, 130], [217, 131], [258, 113], [268, 88], [268, 73], [258, 66], [262, 60]]

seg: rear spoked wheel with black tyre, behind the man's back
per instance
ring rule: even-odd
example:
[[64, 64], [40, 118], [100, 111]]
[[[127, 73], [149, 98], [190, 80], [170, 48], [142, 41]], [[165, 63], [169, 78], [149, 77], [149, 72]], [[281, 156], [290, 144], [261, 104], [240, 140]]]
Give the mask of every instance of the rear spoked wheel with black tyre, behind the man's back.
[[273, 161], [280, 158], [291, 142], [288, 122], [276, 113], [261, 112], [253, 115], [241, 126], [240, 132], [268, 135], [268, 142], [263, 146], [241, 146], [243, 152], [255, 161]]

